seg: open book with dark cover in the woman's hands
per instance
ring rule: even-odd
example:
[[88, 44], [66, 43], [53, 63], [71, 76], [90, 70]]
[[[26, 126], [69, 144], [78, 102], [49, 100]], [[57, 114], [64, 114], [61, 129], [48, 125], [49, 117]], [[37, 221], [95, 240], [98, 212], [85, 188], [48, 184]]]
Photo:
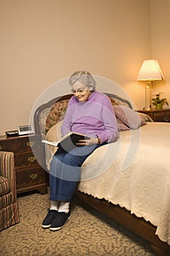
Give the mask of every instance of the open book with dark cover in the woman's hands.
[[82, 135], [81, 133], [76, 133], [76, 132], [69, 132], [68, 134], [64, 135], [61, 137], [60, 140], [58, 141], [53, 141], [53, 140], [42, 140], [42, 143], [46, 143], [50, 146], [62, 146], [64, 148], [73, 148], [76, 146], [76, 143], [79, 142], [79, 140], [89, 140], [90, 138], [86, 135]]

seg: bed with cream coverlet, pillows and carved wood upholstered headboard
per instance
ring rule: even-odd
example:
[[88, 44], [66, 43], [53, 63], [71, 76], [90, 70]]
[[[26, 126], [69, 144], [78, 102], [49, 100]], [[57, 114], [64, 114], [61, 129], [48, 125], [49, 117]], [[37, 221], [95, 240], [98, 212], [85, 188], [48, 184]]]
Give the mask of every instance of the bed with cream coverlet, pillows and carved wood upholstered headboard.
[[[170, 255], [170, 123], [155, 123], [147, 115], [138, 115], [127, 99], [107, 95], [116, 113], [119, 138], [85, 160], [75, 195], [145, 238], [155, 255]], [[34, 129], [41, 139], [61, 137], [70, 97], [56, 97], [36, 109]], [[42, 143], [42, 165], [47, 171], [55, 150]]]

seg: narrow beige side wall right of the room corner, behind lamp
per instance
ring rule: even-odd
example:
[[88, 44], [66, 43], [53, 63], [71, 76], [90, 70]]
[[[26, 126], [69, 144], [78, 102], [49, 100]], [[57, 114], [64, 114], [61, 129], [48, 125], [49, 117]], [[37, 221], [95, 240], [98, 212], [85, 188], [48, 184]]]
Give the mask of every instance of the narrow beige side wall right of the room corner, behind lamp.
[[163, 92], [170, 107], [170, 1], [151, 0], [150, 10], [152, 59], [158, 59], [165, 76], [165, 80], [153, 84], [152, 92]]

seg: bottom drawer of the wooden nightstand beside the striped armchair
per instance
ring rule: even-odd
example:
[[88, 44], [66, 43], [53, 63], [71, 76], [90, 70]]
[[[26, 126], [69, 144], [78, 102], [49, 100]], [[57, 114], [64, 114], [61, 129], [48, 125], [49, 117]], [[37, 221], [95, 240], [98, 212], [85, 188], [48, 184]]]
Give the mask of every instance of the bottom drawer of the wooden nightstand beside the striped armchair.
[[37, 186], [45, 182], [45, 171], [42, 167], [16, 170], [17, 189]]

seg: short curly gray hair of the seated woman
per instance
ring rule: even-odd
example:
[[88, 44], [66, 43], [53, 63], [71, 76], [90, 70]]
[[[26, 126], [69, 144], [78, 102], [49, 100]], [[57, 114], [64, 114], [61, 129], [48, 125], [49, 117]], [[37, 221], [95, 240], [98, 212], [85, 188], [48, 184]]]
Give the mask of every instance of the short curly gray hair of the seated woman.
[[93, 75], [88, 71], [75, 71], [69, 78], [69, 84], [73, 86], [76, 81], [85, 84], [87, 87], [91, 87], [91, 90], [95, 91], [96, 80], [94, 80]]

